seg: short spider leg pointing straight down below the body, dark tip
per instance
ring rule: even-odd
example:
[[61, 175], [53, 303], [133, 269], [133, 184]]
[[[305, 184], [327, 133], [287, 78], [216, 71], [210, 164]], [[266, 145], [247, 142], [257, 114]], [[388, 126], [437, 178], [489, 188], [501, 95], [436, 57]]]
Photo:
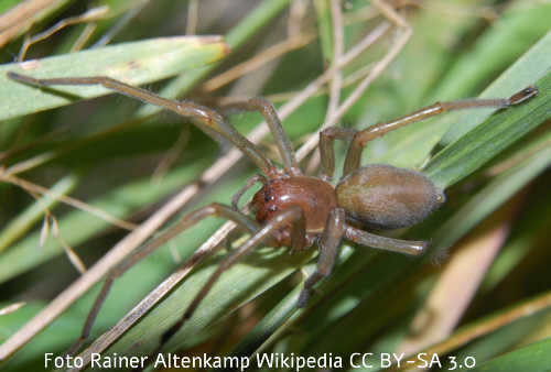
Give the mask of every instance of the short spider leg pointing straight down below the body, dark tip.
[[332, 209], [323, 237], [320, 241], [320, 258], [317, 259], [316, 271], [304, 282], [304, 288], [299, 295], [298, 307], [306, 306], [312, 287], [323, 277], [331, 274], [337, 256], [338, 247], [345, 230], [346, 212], [343, 208]]

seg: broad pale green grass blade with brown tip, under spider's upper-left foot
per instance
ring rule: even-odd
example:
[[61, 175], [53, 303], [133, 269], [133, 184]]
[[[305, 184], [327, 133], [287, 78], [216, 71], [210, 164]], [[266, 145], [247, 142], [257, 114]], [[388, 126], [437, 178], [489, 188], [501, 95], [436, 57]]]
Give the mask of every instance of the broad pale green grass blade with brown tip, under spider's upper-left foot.
[[[13, 81], [8, 72], [36, 78], [105, 75], [141, 85], [202, 67], [227, 54], [217, 36], [176, 36], [123, 43], [0, 66], [0, 120], [72, 103], [75, 97], [91, 98], [109, 92], [100, 86], [55, 87], [54, 94]], [[67, 97], [68, 95], [68, 97]]]

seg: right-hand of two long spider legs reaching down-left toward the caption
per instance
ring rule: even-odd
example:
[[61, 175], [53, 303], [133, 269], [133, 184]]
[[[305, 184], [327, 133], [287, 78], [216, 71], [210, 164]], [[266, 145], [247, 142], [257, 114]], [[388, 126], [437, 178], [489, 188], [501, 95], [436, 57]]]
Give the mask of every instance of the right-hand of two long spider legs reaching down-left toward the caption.
[[[302, 222], [301, 222], [302, 221]], [[304, 231], [304, 214], [300, 207], [291, 207], [276, 215], [270, 221], [266, 223], [260, 230], [258, 230], [249, 240], [247, 240], [242, 245], [231, 252], [216, 271], [210, 275], [207, 282], [203, 285], [201, 291], [195, 295], [192, 303], [187, 306], [184, 314], [171, 328], [169, 328], [161, 337], [161, 342], [151, 355], [155, 355], [160, 350], [169, 342], [169, 340], [182, 328], [184, 322], [190, 319], [197, 306], [205, 298], [208, 292], [213, 288], [214, 284], [218, 281], [222, 273], [231, 267], [236, 262], [248, 255], [256, 248], [258, 248], [262, 242], [264, 242], [272, 233], [287, 227], [292, 226], [291, 232], [291, 245], [293, 249], [300, 249], [305, 243], [305, 231]], [[148, 358], [148, 361], [152, 361], [154, 358]]]

